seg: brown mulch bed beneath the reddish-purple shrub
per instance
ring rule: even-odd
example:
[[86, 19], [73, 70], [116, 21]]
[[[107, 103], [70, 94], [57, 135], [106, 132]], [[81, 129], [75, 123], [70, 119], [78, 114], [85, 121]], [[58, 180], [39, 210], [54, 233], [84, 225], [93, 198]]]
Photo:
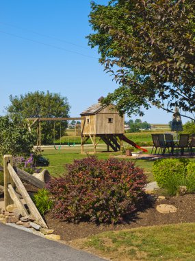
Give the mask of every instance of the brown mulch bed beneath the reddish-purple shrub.
[[[158, 204], [170, 204], [177, 207], [177, 213], [160, 214], [155, 207]], [[50, 228], [55, 229], [55, 234], [60, 234], [62, 240], [70, 241], [84, 238], [103, 231], [131, 229], [133, 227], [146, 227], [153, 225], [165, 225], [174, 223], [195, 222], [195, 194], [184, 196], [166, 197], [165, 200], [157, 200], [157, 196], [146, 196], [144, 205], [137, 213], [129, 216], [125, 224], [120, 225], [95, 225], [92, 223], [72, 224], [52, 218], [51, 214], [45, 216]]]

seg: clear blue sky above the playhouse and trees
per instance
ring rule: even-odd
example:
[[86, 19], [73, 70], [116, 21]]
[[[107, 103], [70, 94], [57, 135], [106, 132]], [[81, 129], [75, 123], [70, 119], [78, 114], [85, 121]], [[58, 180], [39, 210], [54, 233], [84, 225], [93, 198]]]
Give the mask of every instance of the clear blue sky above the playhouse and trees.
[[[99, 97], [114, 91], [117, 85], [99, 65], [97, 49], [88, 47], [89, 13], [89, 0], [0, 2], [0, 115], [11, 94], [60, 93], [68, 98], [70, 116], [79, 117]], [[151, 109], [142, 120], [168, 123], [171, 116]]]

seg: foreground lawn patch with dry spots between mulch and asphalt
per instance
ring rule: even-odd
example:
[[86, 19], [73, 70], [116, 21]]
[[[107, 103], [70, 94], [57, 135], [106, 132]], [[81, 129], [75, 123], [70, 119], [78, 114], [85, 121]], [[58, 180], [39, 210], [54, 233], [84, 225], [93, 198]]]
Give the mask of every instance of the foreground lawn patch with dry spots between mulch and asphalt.
[[194, 260], [195, 223], [109, 231], [70, 245], [116, 261]]

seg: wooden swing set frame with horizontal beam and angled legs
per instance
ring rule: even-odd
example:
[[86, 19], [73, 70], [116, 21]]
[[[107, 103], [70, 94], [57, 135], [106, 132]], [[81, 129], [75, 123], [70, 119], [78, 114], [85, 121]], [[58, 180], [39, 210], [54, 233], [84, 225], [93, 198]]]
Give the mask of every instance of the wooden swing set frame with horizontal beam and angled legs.
[[[65, 121], [65, 120], [85, 120], [86, 117], [41, 117], [41, 118], [27, 118], [28, 128], [31, 131], [31, 127], [37, 123], [37, 146], [41, 146], [41, 122], [48, 121]], [[30, 122], [32, 122], [30, 124]]]

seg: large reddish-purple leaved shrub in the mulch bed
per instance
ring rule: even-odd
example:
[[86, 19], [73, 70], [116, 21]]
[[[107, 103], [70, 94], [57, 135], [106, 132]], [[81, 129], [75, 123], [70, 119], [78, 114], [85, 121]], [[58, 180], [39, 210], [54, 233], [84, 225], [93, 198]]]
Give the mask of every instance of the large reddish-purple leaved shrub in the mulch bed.
[[67, 165], [63, 177], [47, 188], [55, 218], [77, 223], [118, 223], [134, 212], [144, 196], [146, 176], [131, 161], [88, 157]]

